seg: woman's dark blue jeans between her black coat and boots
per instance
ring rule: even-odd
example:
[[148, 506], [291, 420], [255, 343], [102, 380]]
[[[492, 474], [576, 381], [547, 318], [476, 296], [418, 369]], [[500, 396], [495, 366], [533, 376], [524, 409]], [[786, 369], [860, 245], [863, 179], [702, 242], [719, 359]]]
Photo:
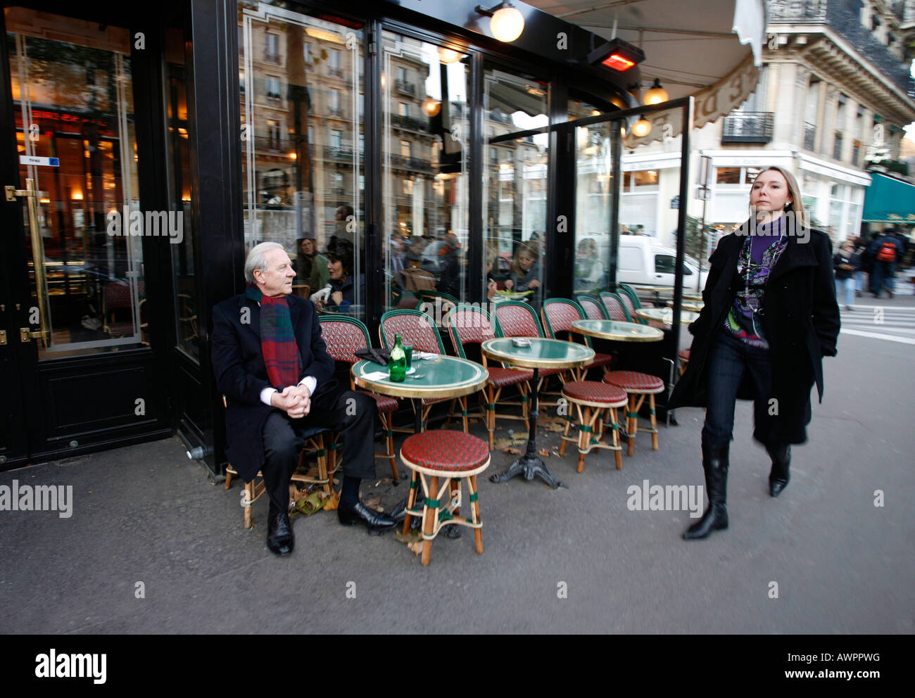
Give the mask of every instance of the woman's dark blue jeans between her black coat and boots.
[[707, 446], [727, 446], [734, 438], [734, 408], [737, 388], [744, 371], [749, 371], [755, 396], [753, 418], [755, 434], [770, 431], [769, 414], [772, 397], [772, 363], [769, 349], [750, 347], [725, 330], [719, 330], [709, 349], [707, 364], [708, 403], [705, 408], [705, 425], [702, 442]]

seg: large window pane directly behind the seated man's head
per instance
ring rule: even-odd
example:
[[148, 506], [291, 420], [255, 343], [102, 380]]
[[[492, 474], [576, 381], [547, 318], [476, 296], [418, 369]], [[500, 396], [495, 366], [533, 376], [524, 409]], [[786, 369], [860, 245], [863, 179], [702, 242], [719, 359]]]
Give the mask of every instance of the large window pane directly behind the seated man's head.
[[[346, 303], [324, 309], [362, 315], [363, 30], [287, 5], [238, 4], [239, 68], [248, 76], [242, 123], [250, 127], [242, 143], [245, 245], [279, 242], [296, 263], [295, 293], [331, 284]], [[269, 75], [252, 59], [252, 48], [268, 36], [277, 37], [280, 53], [280, 67], [271, 66]], [[348, 273], [339, 279], [328, 277], [324, 256], [334, 237], [352, 246]]]

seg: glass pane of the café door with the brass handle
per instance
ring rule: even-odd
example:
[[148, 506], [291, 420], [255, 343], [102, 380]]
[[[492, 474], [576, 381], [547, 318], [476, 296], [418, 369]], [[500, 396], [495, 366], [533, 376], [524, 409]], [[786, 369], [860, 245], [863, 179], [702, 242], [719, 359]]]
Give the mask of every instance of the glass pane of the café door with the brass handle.
[[[47, 314], [49, 346], [39, 359], [145, 343], [143, 249], [129, 233], [140, 209], [136, 178], [130, 37], [119, 27], [68, 18], [68, 41], [48, 38], [60, 17], [6, 8], [9, 66], [20, 156], [57, 158], [58, 166], [20, 165], [19, 188], [40, 192], [38, 260], [26, 222], [32, 303]], [[48, 161], [50, 163], [51, 161]], [[117, 229], [110, 229], [117, 214]], [[127, 220], [124, 219], [126, 214]], [[121, 234], [109, 234], [113, 230]], [[163, 234], [166, 234], [165, 232]], [[35, 263], [47, 287], [39, 303]]]

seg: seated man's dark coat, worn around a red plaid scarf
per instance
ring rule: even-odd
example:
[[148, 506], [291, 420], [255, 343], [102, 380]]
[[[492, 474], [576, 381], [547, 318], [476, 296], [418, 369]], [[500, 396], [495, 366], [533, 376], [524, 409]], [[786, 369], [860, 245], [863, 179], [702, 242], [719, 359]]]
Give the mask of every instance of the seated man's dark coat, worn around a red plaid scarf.
[[[289, 318], [302, 359], [298, 380], [314, 376], [318, 385], [311, 410], [329, 409], [337, 393], [334, 360], [321, 338], [315, 305], [306, 298], [287, 295]], [[264, 465], [264, 420], [277, 408], [261, 402], [261, 391], [271, 387], [261, 351], [261, 306], [244, 294], [213, 307], [213, 372], [226, 407], [226, 453], [229, 462], [250, 482]]]

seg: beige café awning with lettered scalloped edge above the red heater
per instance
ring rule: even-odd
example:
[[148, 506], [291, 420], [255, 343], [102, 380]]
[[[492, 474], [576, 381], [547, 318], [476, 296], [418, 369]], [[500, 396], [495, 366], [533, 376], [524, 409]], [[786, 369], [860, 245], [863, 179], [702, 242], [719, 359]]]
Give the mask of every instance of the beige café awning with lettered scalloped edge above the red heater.
[[672, 100], [694, 96], [696, 128], [745, 102], [759, 81], [765, 0], [526, 2], [608, 39], [616, 20], [617, 36], [645, 51], [643, 83], [658, 78]]

